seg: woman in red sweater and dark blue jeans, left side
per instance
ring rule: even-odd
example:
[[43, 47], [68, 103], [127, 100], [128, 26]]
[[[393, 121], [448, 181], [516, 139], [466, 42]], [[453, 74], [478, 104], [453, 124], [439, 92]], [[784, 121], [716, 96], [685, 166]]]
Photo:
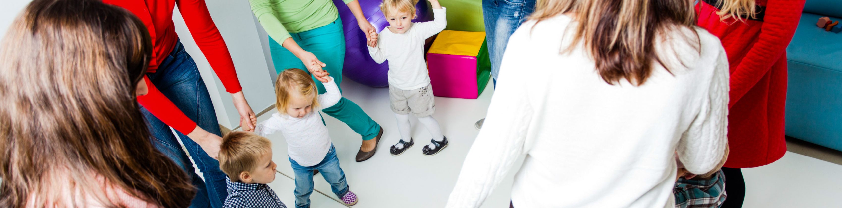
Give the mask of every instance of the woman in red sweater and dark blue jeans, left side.
[[[173, 159], [186, 171], [193, 185], [199, 189], [191, 207], [221, 207], [226, 192], [225, 173], [219, 169], [216, 155], [222, 141], [219, 122], [210, 101], [205, 82], [193, 58], [184, 51], [173, 24], [173, 8], [187, 24], [190, 34], [207, 57], [210, 67], [231, 93], [241, 124], [253, 127], [254, 115], [242, 94], [242, 87], [234, 71], [231, 54], [210, 19], [204, 0], [104, 0], [134, 13], [149, 30], [152, 38], [152, 61], [146, 73], [149, 93], [138, 97], [146, 117], [155, 147]], [[245, 122], [243, 122], [245, 121]], [[178, 131], [179, 138], [205, 181], [195, 173], [193, 163], [173, 136], [169, 127]], [[186, 139], [186, 138], [190, 139]]]

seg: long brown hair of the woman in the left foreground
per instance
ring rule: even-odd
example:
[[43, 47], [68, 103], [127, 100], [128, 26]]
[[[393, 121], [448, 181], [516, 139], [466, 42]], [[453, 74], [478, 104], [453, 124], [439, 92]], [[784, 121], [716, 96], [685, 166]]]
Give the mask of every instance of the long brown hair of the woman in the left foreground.
[[[70, 187], [115, 206], [103, 189], [184, 207], [187, 175], [152, 147], [135, 90], [152, 56], [144, 24], [96, 0], [35, 0], [0, 45], [0, 206], [66, 205]], [[70, 179], [71, 181], [56, 181]], [[102, 187], [103, 182], [113, 187]], [[69, 184], [67, 184], [69, 183]]]

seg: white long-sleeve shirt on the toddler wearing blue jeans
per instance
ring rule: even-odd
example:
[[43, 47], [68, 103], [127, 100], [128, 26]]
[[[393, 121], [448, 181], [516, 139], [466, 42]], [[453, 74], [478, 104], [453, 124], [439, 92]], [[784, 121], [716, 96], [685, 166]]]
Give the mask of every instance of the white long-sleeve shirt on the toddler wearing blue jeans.
[[313, 108], [309, 114], [304, 115], [304, 118], [274, 113], [272, 118], [254, 127], [254, 133], [259, 136], [267, 136], [280, 131], [286, 139], [287, 154], [304, 167], [321, 163], [330, 150], [328, 126], [322, 123], [322, 115], [318, 111], [327, 109], [342, 99], [339, 88], [333, 82], [333, 77], [330, 77], [328, 83], [323, 84], [325, 93], [318, 95], [318, 109]]

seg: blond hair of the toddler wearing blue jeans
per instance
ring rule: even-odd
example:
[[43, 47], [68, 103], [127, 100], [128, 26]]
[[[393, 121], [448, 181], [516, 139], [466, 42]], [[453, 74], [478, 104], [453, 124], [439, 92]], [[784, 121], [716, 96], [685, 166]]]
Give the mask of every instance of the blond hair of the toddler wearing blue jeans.
[[274, 106], [278, 113], [286, 114], [286, 107], [290, 105], [293, 93], [301, 93], [307, 99], [312, 99], [312, 108], [318, 107], [318, 89], [312, 77], [304, 70], [288, 68], [278, 73], [278, 80], [274, 83], [274, 94], [278, 97]]

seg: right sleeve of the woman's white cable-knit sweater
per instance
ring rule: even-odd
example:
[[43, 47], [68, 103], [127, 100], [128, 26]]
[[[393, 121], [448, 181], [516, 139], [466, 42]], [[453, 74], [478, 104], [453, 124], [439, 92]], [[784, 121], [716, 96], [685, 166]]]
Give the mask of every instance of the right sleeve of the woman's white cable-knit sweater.
[[701, 111], [676, 147], [679, 160], [694, 174], [717, 168], [728, 145], [728, 62], [722, 46], [715, 67]]

